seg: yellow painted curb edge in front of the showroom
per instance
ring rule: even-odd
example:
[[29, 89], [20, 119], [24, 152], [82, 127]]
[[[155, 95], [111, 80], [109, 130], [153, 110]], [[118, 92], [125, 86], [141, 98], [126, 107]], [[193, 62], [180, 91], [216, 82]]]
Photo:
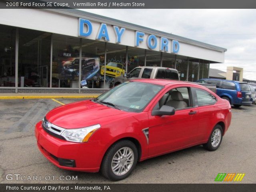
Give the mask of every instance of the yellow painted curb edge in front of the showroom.
[[[100, 95], [100, 94], [99, 94]], [[66, 99], [75, 99], [75, 98], [96, 98], [99, 95], [72, 95], [72, 96], [0, 96], [0, 99], [58, 99], [58, 98], [66, 98]]]

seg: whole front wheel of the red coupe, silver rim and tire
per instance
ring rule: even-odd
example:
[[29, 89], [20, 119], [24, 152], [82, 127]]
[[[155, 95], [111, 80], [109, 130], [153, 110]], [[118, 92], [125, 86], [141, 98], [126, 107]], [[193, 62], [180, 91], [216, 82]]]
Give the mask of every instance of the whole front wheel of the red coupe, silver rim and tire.
[[129, 140], [113, 144], [102, 161], [101, 172], [110, 180], [122, 180], [134, 170], [138, 161], [138, 150]]

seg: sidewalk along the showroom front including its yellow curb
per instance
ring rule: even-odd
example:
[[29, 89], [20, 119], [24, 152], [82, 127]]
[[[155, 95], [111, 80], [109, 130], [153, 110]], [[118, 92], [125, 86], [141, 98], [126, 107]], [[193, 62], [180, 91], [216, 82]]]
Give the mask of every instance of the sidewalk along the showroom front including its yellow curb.
[[90, 93], [0, 93], [0, 99], [96, 98]]

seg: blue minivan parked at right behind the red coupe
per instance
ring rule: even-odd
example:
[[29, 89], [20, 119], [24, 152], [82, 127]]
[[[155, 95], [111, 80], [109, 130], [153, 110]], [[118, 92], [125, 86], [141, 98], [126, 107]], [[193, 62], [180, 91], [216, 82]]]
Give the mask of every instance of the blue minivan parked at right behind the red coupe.
[[197, 82], [215, 84], [216, 94], [222, 99], [228, 100], [235, 107], [252, 104], [251, 90], [247, 83], [211, 78], [200, 79]]

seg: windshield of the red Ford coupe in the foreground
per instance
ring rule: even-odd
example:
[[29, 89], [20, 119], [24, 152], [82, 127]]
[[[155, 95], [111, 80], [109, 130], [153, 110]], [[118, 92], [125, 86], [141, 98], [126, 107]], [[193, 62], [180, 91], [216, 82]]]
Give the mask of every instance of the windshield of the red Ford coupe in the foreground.
[[142, 112], [162, 88], [150, 83], [125, 82], [98, 96], [96, 101], [127, 112]]

